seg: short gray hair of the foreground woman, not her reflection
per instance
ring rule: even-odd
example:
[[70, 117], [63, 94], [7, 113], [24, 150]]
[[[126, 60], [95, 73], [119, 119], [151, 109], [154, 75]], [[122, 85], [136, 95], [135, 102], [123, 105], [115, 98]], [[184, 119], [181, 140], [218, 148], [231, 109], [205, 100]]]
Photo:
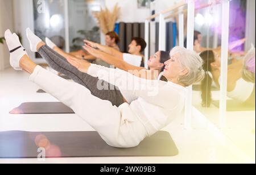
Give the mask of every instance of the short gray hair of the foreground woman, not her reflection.
[[187, 68], [188, 73], [179, 77], [179, 82], [185, 86], [190, 86], [195, 82], [200, 82], [205, 77], [203, 69], [203, 59], [194, 51], [185, 49], [184, 47], [174, 47], [170, 55], [179, 53], [179, 61], [182, 68]]

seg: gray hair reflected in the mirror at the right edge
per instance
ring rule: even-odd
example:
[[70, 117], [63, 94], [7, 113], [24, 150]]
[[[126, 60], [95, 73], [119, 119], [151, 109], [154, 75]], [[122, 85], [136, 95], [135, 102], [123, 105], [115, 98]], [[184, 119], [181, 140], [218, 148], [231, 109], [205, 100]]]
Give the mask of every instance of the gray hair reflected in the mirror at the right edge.
[[255, 84], [255, 73], [250, 72], [249, 70], [247, 70], [246, 67], [246, 62], [253, 57], [255, 57], [255, 48], [250, 49], [250, 51], [245, 56], [245, 62], [243, 64], [242, 70], [242, 78], [247, 82], [253, 82]]

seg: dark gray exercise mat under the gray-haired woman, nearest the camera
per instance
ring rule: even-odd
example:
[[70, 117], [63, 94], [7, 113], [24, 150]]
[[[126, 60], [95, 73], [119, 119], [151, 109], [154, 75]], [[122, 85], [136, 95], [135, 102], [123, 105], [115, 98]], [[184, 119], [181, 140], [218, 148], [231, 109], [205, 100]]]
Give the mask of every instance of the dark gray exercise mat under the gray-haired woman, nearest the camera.
[[179, 151], [168, 132], [159, 131], [135, 148], [113, 148], [97, 132], [0, 132], [0, 158], [37, 158], [38, 145], [46, 145], [46, 158], [176, 156]]

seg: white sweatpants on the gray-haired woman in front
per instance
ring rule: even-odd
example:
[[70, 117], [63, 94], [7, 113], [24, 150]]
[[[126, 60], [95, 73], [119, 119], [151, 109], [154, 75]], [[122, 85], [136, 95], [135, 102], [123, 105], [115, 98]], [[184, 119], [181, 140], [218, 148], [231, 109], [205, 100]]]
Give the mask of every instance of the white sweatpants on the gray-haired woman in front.
[[142, 122], [127, 103], [112, 106], [109, 101], [94, 97], [86, 87], [64, 80], [40, 66], [36, 66], [30, 80], [71, 107], [112, 147], [136, 147], [147, 137]]

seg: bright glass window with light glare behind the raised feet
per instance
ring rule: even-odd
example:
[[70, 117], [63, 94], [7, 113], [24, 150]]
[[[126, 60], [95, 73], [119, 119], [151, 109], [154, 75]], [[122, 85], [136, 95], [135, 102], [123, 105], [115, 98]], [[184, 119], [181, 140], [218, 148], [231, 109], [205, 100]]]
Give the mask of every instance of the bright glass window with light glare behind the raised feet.
[[81, 49], [85, 38], [100, 43], [94, 13], [102, 6], [104, 0], [33, 0], [35, 34], [42, 39], [50, 38], [67, 52]]

